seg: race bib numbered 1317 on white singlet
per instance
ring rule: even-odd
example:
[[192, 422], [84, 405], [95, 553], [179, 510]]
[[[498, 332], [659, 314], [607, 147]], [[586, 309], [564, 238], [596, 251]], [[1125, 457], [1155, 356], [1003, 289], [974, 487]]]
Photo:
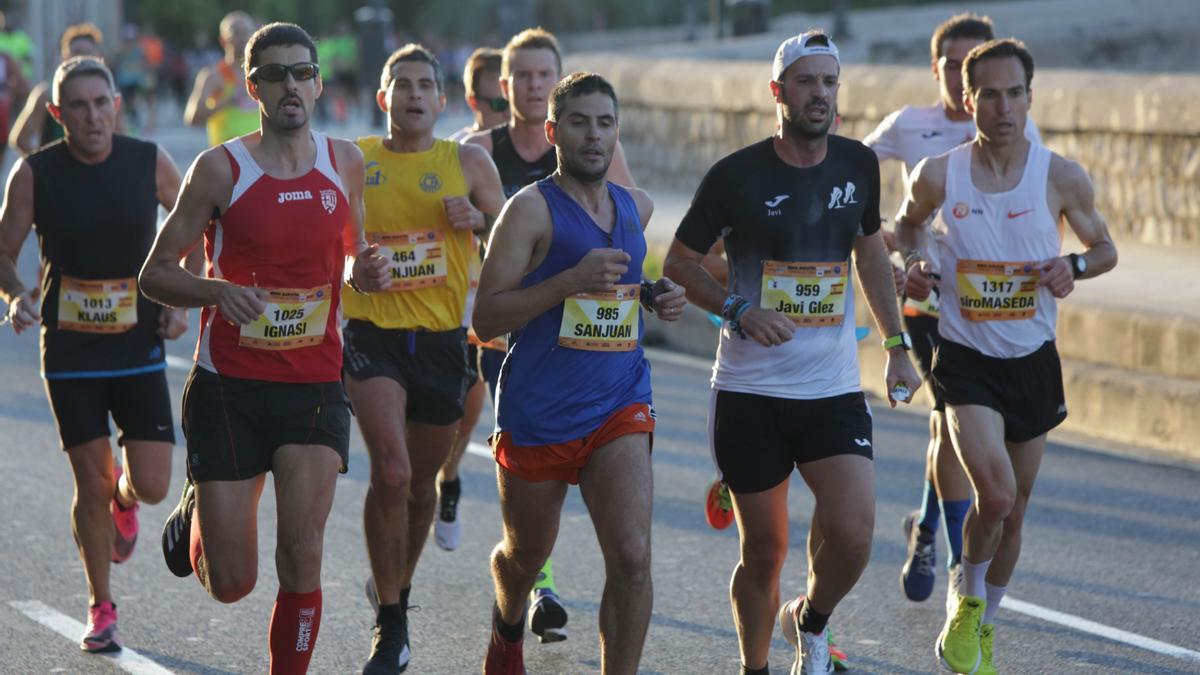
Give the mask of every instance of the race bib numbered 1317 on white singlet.
[[960, 259], [959, 310], [967, 321], [1018, 321], [1038, 311], [1037, 263]]

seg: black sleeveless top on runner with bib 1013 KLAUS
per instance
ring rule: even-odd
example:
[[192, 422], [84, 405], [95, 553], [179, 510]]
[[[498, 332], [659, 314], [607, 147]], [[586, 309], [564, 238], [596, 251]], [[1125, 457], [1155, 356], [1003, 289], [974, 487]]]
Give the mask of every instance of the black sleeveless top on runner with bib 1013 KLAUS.
[[[157, 234], [157, 154], [154, 143], [114, 136], [113, 153], [98, 165], [76, 160], [65, 141], [26, 159], [34, 172], [34, 229], [42, 250], [42, 374], [49, 380], [121, 377], [166, 366], [157, 335], [162, 307], [137, 289], [138, 271]], [[133, 280], [137, 323], [124, 333], [68, 328], [72, 322], [102, 325], [110, 307], [103, 300], [88, 306], [68, 299], [70, 306], [82, 306], [80, 312], [95, 311], [89, 317], [59, 317], [64, 276]], [[124, 293], [119, 285], [115, 288], [118, 295]]]

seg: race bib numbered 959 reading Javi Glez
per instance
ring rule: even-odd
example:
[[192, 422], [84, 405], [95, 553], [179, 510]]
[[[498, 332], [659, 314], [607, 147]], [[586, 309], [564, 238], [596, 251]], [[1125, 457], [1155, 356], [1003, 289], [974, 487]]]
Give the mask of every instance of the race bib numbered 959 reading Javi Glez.
[[841, 325], [846, 317], [846, 276], [850, 265], [763, 261], [760, 306], [792, 319], [798, 327]]

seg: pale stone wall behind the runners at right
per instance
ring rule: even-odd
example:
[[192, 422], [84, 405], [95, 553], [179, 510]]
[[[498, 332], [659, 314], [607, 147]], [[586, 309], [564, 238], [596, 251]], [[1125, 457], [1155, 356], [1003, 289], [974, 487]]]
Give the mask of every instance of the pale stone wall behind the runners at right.
[[[620, 97], [622, 143], [650, 186], [695, 190], [727, 153], [770, 135], [769, 64], [568, 59], [608, 77]], [[936, 98], [925, 68], [846, 65], [841, 133], [862, 138], [889, 112]], [[1200, 76], [1038, 71], [1033, 119], [1048, 147], [1084, 165], [1118, 240], [1200, 247]], [[899, 167], [884, 167], [883, 215], [900, 204]]]

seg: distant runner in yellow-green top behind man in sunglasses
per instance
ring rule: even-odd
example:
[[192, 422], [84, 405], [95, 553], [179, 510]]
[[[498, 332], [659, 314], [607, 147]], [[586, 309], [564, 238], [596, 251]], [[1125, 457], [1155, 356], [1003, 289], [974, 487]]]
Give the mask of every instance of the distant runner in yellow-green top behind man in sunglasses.
[[184, 108], [184, 124], [204, 126], [209, 145], [258, 131], [258, 102], [246, 92], [242, 60], [246, 42], [257, 25], [246, 12], [229, 12], [221, 19], [223, 58], [196, 73], [192, 95]]

